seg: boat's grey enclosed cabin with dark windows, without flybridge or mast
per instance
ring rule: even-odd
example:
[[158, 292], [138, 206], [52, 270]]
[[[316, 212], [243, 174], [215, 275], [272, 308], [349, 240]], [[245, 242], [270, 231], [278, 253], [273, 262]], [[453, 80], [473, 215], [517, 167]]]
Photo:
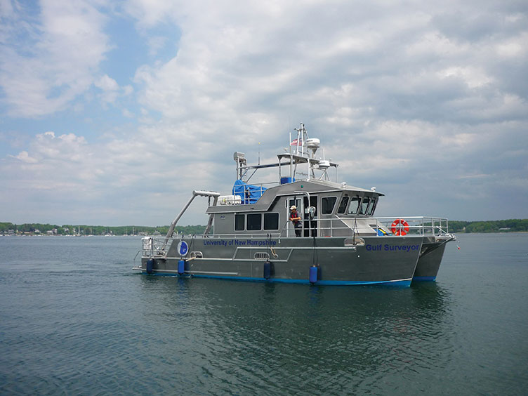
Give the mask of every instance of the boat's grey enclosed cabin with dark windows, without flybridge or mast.
[[[215, 234], [291, 236], [293, 227], [289, 224], [289, 215], [294, 205], [303, 218], [304, 237], [345, 236], [350, 235], [345, 232], [348, 227], [338, 227], [338, 223], [352, 223], [373, 216], [382, 195], [328, 181], [298, 180], [268, 188], [253, 204], [227, 202], [209, 206], [206, 213], [213, 216]], [[231, 202], [237, 201], [232, 199]], [[338, 228], [343, 228], [343, 232], [336, 235]]]

